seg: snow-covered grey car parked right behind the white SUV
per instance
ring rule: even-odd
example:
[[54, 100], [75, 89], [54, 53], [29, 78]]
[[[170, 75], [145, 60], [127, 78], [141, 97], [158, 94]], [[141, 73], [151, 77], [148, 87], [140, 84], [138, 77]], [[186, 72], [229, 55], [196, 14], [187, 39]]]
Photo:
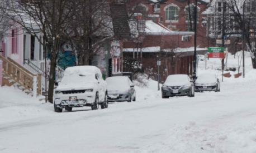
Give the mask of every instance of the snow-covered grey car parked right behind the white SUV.
[[127, 76], [113, 76], [106, 79], [107, 100], [113, 101], [136, 101], [134, 84]]

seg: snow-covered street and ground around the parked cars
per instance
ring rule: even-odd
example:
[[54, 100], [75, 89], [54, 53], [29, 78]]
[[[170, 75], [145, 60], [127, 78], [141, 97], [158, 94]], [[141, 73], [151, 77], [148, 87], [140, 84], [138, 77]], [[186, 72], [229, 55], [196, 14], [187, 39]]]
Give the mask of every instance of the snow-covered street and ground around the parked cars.
[[[207, 71], [216, 70], [199, 73]], [[169, 99], [149, 81], [136, 87], [136, 102], [63, 113], [0, 87], [0, 152], [256, 152], [255, 76], [248, 68], [245, 79], [225, 78], [221, 92]]]

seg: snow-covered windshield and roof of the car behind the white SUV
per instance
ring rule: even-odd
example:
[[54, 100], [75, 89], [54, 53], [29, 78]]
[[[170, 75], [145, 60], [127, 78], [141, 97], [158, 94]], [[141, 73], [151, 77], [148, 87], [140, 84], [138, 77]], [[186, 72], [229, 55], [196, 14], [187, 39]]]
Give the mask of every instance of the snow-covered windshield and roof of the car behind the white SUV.
[[108, 90], [120, 90], [130, 87], [127, 77], [124, 76], [108, 77], [106, 82]]

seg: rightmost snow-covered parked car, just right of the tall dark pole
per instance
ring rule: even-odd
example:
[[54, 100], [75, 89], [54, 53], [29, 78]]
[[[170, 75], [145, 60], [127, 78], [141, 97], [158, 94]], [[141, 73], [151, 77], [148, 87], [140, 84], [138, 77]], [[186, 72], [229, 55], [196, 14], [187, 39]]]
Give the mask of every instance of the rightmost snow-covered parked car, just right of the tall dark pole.
[[204, 73], [197, 77], [195, 82], [195, 91], [220, 91], [220, 81], [215, 74]]

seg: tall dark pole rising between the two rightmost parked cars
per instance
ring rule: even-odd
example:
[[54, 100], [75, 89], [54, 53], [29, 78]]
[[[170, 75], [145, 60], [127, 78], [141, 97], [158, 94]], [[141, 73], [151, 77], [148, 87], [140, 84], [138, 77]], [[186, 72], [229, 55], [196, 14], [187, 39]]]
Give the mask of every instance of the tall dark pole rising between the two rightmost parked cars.
[[197, 0], [195, 0], [195, 5], [194, 5], [194, 61], [193, 61], [193, 80], [196, 80], [196, 62], [197, 62]]

